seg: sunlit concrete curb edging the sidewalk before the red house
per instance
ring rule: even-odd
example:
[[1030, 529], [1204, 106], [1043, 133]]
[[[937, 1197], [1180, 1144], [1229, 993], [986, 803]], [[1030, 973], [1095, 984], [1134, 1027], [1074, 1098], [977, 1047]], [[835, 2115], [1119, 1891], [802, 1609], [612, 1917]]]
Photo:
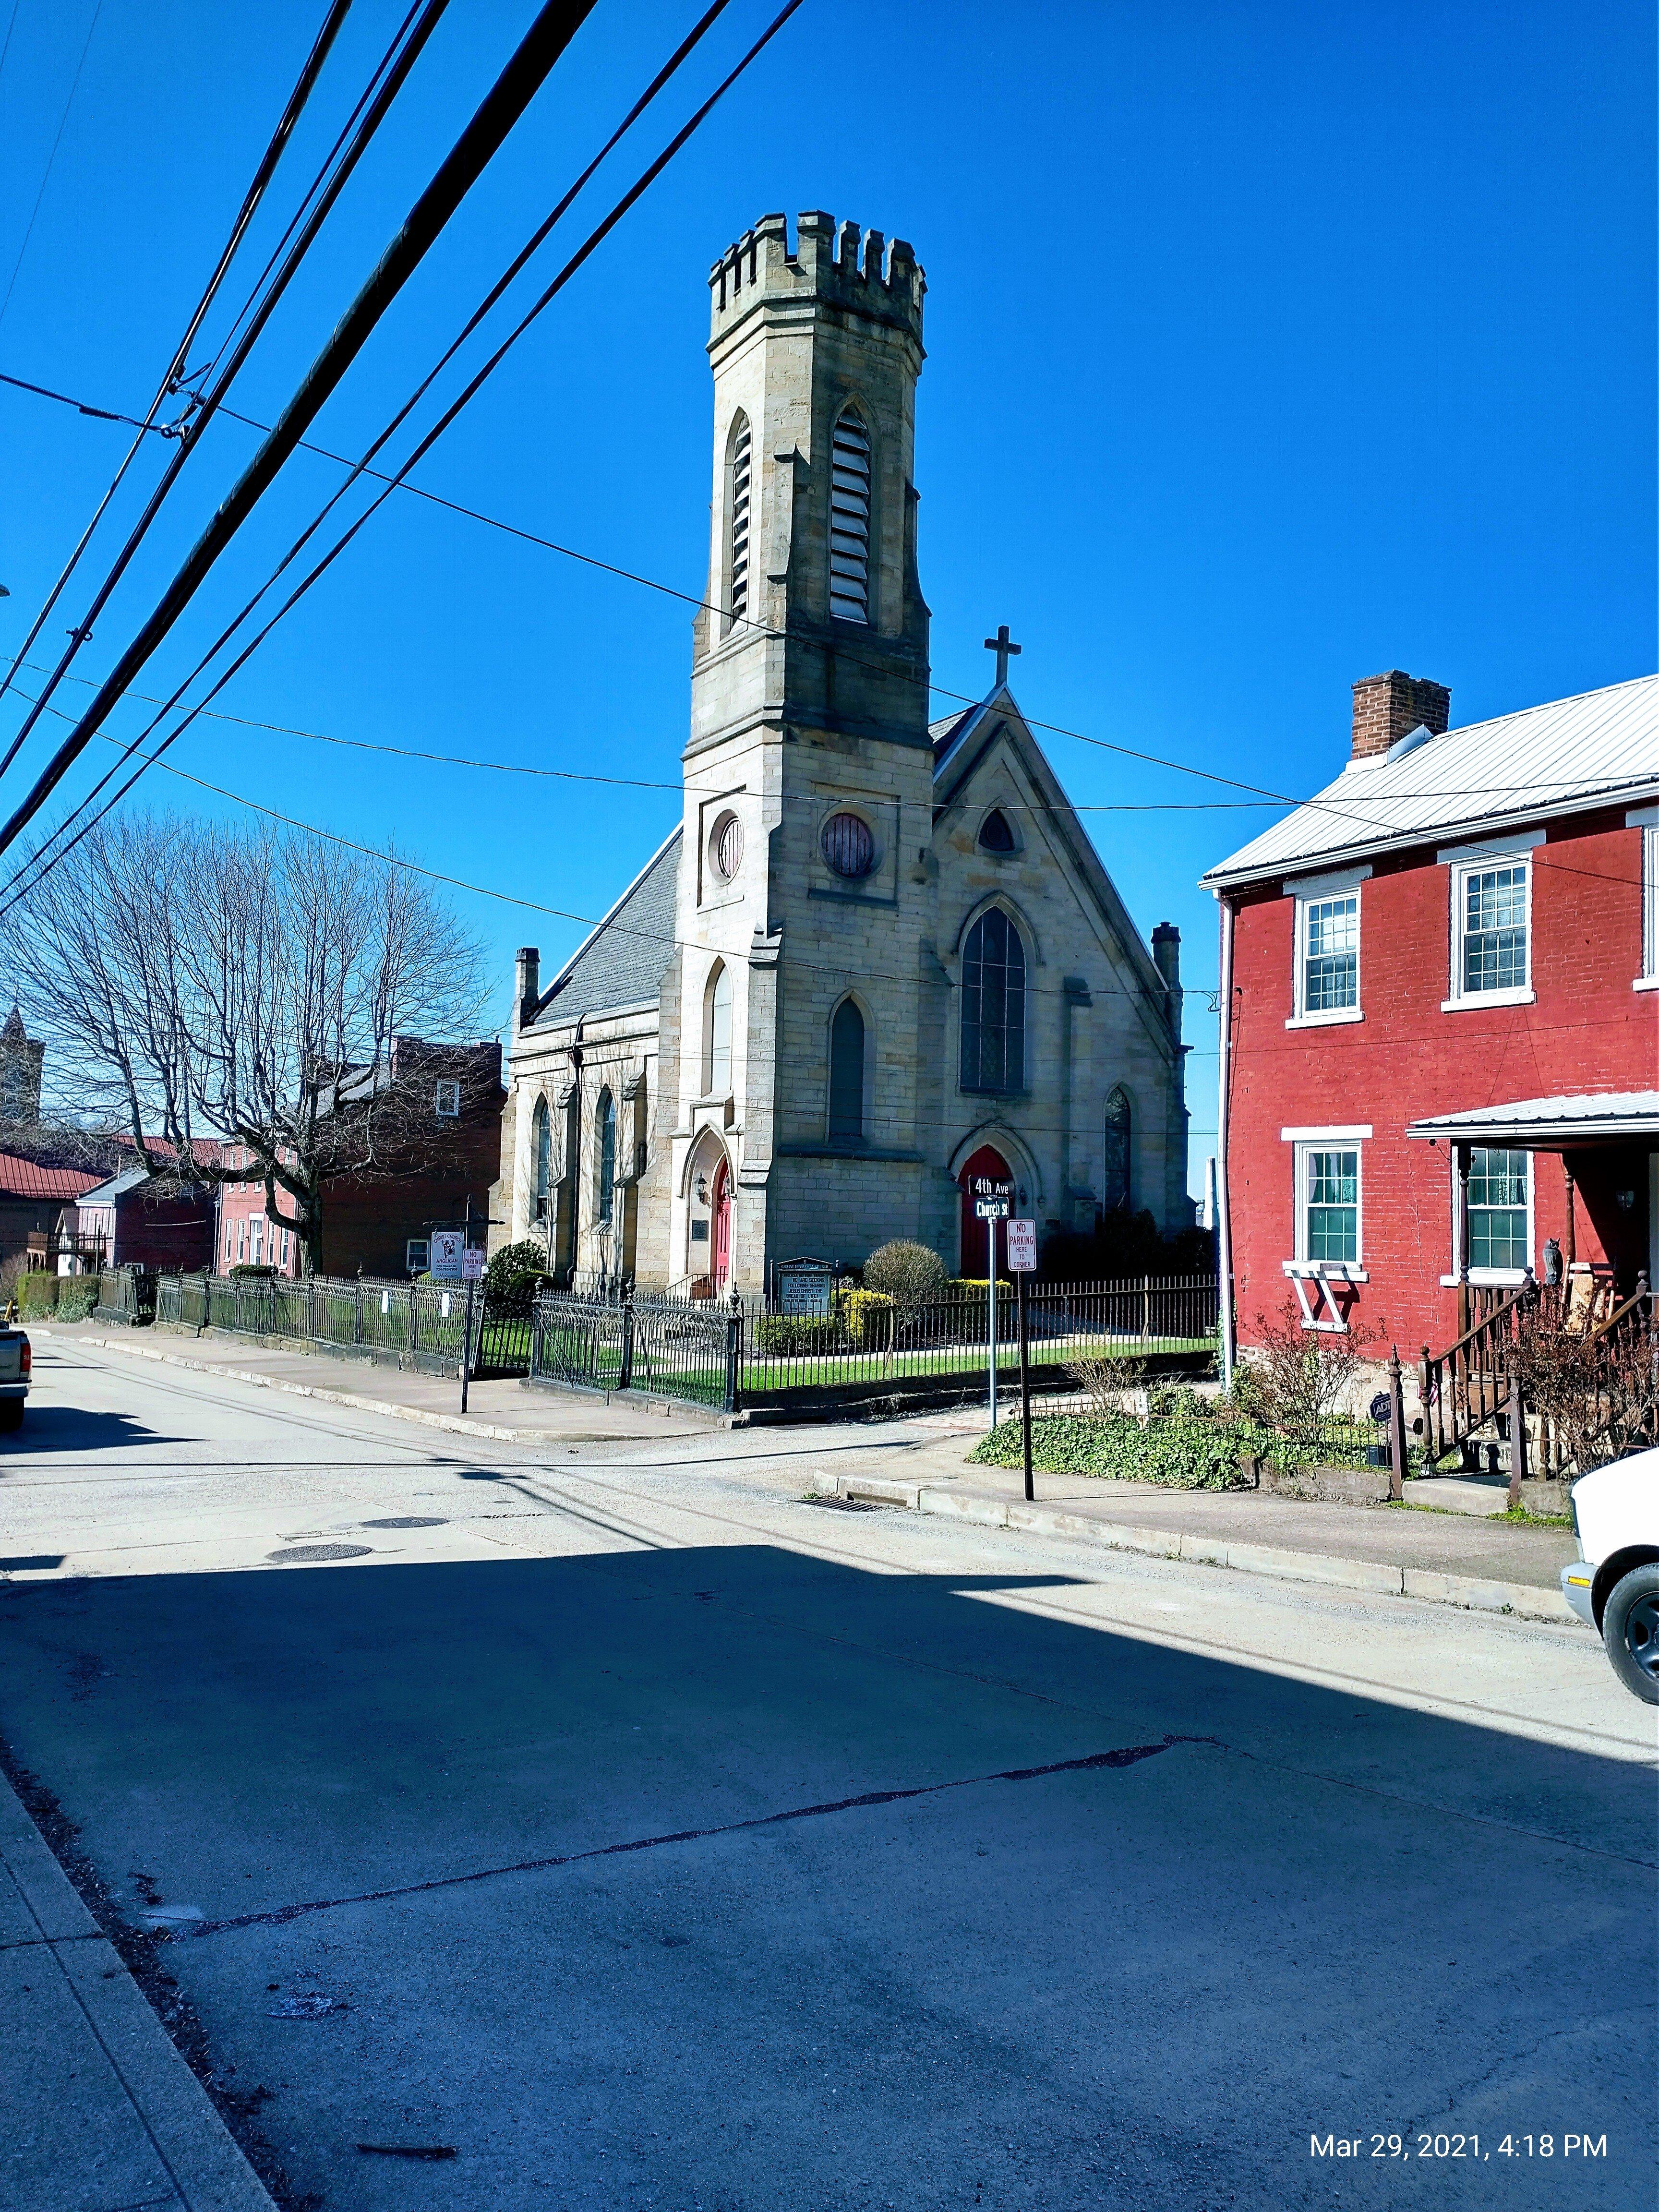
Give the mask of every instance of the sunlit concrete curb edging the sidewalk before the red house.
[[1177, 1528], [1139, 1528], [1133, 1522], [1095, 1520], [1057, 1506], [989, 1498], [984, 1491], [933, 1489], [889, 1475], [823, 1478], [823, 1489], [858, 1504], [907, 1506], [911, 1513], [947, 1513], [987, 1528], [1024, 1528], [1031, 1535], [1064, 1535], [1106, 1551], [1137, 1551], [1155, 1559], [1188, 1559], [1194, 1566], [1232, 1566], [1243, 1575], [1274, 1575], [1283, 1582], [1323, 1582], [1340, 1590], [1380, 1597], [1427, 1597], [1464, 1613], [1511, 1613], [1524, 1621], [1573, 1621], [1577, 1615], [1559, 1590], [1526, 1582], [1486, 1582], [1475, 1575], [1442, 1575], [1420, 1566], [1389, 1566], [1383, 1559], [1336, 1559], [1316, 1551], [1279, 1551], [1274, 1544], [1237, 1544], [1214, 1535], [1183, 1535]]

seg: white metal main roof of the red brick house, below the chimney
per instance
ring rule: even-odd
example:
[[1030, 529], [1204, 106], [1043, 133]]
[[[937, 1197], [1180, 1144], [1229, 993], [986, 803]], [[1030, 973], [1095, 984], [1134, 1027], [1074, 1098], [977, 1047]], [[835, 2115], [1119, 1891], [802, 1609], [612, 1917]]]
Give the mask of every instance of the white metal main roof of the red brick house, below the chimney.
[[1444, 843], [1659, 792], [1659, 677], [1553, 699], [1349, 761], [1336, 783], [1201, 878], [1212, 889], [1307, 874], [1389, 845]]

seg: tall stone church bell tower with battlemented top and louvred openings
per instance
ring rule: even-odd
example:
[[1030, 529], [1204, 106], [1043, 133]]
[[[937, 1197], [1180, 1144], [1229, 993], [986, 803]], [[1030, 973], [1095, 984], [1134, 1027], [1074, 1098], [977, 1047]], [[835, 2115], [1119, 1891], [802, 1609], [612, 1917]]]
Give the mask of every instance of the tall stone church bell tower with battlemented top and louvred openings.
[[[880, 1075], [878, 1040], [914, 1022], [931, 836], [911, 480], [925, 290], [909, 246], [823, 212], [796, 219], [794, 250], [785, 219], [761, 217], [710, 272], [675, 1175], [684, 1272], [712, 1292], [759, 1287], [768, 1259], [863, 1250], [872, 1206], [894, 1234], [914, 1210], [867, 1168], [916, 1157], [914, 1079]], [[830, 1024], [852, 993], [865, 1095], [841, 1013], [832, 1104]]]

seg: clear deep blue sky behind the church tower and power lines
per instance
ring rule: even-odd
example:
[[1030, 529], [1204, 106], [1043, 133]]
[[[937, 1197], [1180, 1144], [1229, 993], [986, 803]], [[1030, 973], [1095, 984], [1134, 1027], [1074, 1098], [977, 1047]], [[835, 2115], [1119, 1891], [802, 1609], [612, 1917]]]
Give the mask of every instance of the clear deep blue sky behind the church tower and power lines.
[[[142, 409], [321, 13], [104, 4], [0, 319], [2, 369]], [[274, 204], [396, 13], [358, 0]], [[250, 414], [270, 420], [292, 389], [531, 13], [449, 9], [241, 380]], [[367, 442], [692, 13], [602, 0], [330, 403], [323, 442]], [[571, 243], [768, 15], [734, 0], [588, 190]], [[91, 22], [93, 0], [18, 0], [0, 292]], [[1652, 44], [1650, 9], [1595, 0], [807, 0], [418, 480], [699, 593], [708, 263], [770, 208], [827, 208], [911, 239], [927, 268], [916, 476], [936, 681], [982, 692], [980, 639], [1009, 622], [1015, 690], [1040, 721], [1314, 790], [1343, 759], [1360, 675], [1438, 677], [1462, 723], [1655, 666]], [[119, 449], [111, 425], [0, 392], [0, 648]], [[108, 668], [250, 449], [234, 425], [204, 445], [86, 675]], [[334, 482], [319, 460], [290, 465], [146, 690], [190, 666], [212, 615]], [[46, 639], [69, 619], [53, 615]], [[688, 661], [675, 599], [398, 498], [219, 703], [675, 785]], [[1188, 980], [1212, 987], [1214, 909], [1194, 878], [1272, 814], [1194, 807], [1232, 794], [1068, 739], [1051, 752], [1082, 805], [1150, 810], [1088, 823], [1141, 927], [1179, 922]], [[173, 757], [586, 916], [677, 816], [672, 787], [533, 783], [223, 721]], [[86, 781], [91, 765], [71, 790]], [[161, 774], [148, 792], [217, 805]], [[513, 947], [540, 940], [557, 960], [580, 936], [458, 905], [491, 947], [502, 1020]], [[1214, 1126], [1201, 998], [1188, 1035], [1197, 1186]]]

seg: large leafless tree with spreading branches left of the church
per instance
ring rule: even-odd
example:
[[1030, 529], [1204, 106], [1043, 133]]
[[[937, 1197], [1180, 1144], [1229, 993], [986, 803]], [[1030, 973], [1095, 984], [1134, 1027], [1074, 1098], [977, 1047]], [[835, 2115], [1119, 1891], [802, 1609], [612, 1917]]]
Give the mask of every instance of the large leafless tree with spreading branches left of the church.
[[263, 1183], [312, 1267], [325, 1186], [418, 1168], [449, 1126], [434, 1077], [460, 1084], [462, 1113], [498, 1079], [493, 1046], [462, 1042], [484, 1004], [480, 947], [394, 863], [117, 814], [13, 916], [33, 1020], [82, 1117], [126, 1130], [161, 1183]]

